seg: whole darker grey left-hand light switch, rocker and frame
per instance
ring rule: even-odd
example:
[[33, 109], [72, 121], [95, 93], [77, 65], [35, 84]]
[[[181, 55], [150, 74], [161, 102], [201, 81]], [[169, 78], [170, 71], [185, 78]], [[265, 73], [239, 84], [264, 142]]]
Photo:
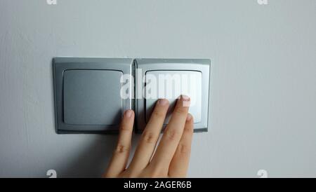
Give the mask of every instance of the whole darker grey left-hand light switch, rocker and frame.
[[58, 133], [117, 132], [131, 109], [122, 99], [121, 76], [131, 75], [132, 59], [67, 58], [53, 60]]

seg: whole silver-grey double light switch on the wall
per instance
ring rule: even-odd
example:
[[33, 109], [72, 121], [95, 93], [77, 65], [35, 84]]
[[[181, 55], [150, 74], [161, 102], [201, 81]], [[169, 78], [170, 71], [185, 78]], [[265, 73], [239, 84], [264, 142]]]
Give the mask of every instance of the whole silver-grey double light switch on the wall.
[[126, 109], [142, 132], [159, 98], [190, 97], [195, 132], [208, 130], [210, 60], [56, 57], [53, 60], [58, 133], [115, 133]]

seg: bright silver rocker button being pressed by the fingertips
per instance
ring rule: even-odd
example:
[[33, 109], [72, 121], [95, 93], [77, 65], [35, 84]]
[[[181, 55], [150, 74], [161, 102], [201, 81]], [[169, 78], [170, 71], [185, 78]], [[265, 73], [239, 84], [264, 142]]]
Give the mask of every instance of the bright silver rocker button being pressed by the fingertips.
[[[169, 110], [164, 124], [168, 124], [169, 119], [171, 118], [171, 112], [176, 104], [176, 99], [180, 97], [180, 95], [187, 95], [190, 97], [189, 113], [194, 117], [194, 123], [201, 122], [201, 71], [147, 71], [146, 76], [152, 76], [158, 80], [155, 81], [156, 85], [151, 85], [150, 88], [157, 88], [156, 92], [160, 93], [158, 96], [169, 100]], [[148, 122], [157, 99], [147, 99], [146, 97], [145, 101], [146, 122]]]

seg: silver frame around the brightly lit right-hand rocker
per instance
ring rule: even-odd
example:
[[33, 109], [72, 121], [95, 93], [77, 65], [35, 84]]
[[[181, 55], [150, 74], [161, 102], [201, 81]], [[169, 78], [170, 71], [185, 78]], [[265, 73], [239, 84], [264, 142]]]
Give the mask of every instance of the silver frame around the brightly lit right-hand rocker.
[[[194, 132], [207, 132], [209, 125], [209, 81], [211, 73], [211, 60], [209, 59], [135, 59], [136, 69], [142, 69], [141, 74], [134, 73], [135, 85], [141, 85], [135, 89], [137, 98], [135, 104], [137, 133], [143, 132], [146, 126], [145, 98], [140, 90], [145, 88], [142, 81], [147, 71], [200, 71], [202, 72], [202, 113], [201, 122], [194, 124]], [[141, 75], [141, 78], [138, 76]], [[139, 82], [141, 81], [141, 82]], [[205, 94], [204, 94], [205, 93]], [[166, 125], [164, 125], [164, 128]]]

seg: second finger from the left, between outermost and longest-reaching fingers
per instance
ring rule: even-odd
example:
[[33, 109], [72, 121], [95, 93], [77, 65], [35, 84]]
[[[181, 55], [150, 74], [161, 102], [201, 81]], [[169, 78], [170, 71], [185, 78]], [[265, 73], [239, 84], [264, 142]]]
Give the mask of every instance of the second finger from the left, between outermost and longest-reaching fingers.
[[150, 163], [152, 153], [156, 147], [159, 134], [162, 131], [162, 126], [164, 125], [164, 118], [166, 118], [168, 107], [168, 100], [158, 100], [150, 116], [150, 121], [148, 121], [143, 135], [140, 137], [140, 142], [131, 161], [131, 165], [128, 168], [129, 170], [140, 172]]

